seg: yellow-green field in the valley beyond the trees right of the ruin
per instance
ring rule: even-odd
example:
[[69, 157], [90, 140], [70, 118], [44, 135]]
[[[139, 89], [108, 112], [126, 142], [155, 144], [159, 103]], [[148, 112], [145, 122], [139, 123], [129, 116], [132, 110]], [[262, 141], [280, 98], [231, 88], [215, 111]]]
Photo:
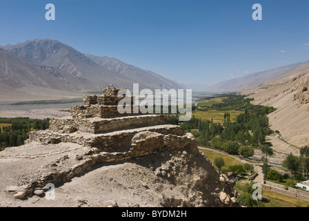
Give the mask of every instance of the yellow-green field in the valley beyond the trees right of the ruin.
[[201, 118], [203, 120], [211, 120], [213, 119], [214, 123], [223, 123], [224, 122], [224, 113], [230, 113], [230, 121], [234, 122], [237, 115], [240, 115], [241, 113], [244, 113], [243, 111], [216, 111], [216, 110], [210, 110], [210, 111], [195, 111], [192, 113], [196, 118]]

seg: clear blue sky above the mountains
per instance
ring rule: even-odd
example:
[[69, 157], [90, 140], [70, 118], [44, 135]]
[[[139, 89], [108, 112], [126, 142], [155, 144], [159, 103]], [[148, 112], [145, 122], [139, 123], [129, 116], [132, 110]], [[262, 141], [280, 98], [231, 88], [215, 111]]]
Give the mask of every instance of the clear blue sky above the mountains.
[[309, 60], [308, 0], [0, 0], [0, 27], [2, 46], [54, 39], [183, 84]]

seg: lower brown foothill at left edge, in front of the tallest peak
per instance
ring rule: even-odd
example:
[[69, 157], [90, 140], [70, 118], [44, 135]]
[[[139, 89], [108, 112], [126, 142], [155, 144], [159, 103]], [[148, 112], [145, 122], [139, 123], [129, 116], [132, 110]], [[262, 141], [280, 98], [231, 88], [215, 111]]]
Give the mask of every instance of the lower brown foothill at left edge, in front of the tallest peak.
[[[57, 68], [37, 66], [0, 48], [0, 102], [77, 97], [77, 81]], [[87, 82], [83, 83], [85, 86]]]

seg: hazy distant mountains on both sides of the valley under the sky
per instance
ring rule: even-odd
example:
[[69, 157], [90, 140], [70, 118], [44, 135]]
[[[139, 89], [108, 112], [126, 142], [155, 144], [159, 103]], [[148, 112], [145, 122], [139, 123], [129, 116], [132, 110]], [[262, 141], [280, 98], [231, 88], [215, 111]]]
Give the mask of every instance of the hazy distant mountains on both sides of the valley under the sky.
[[[199, 82], [183, 86], [150, 70], [126, 64], [119, 59], [95, 56], [51, 39], [34, 39], [0, 48], [0, 99], [8, 91], [20, 95], [66, 95], [99, 91], [113, 84], [117, 88], [192, 88], [215, 93], [241, 91], [276, 79], [308, 61], [272, 68], [209, 86]], [[9, 99], [8, 99], [9, 100]]]

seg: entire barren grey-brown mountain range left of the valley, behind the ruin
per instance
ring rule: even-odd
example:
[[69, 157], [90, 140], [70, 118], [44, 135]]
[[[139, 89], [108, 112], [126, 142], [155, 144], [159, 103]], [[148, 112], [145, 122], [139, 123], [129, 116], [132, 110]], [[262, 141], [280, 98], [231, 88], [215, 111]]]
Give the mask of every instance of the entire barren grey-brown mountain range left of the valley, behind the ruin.
[[139, 83], [140, 89], [183, 88], [175, 81], [151, 71], [118, 59], [83, 54], [55, 40], [34, 39], [1, 48], [2, 90], [28, 91], [40, 87], [63, 90], [65, 93], [99, 91], [109, 84], [132, 89], [134, 83]]

